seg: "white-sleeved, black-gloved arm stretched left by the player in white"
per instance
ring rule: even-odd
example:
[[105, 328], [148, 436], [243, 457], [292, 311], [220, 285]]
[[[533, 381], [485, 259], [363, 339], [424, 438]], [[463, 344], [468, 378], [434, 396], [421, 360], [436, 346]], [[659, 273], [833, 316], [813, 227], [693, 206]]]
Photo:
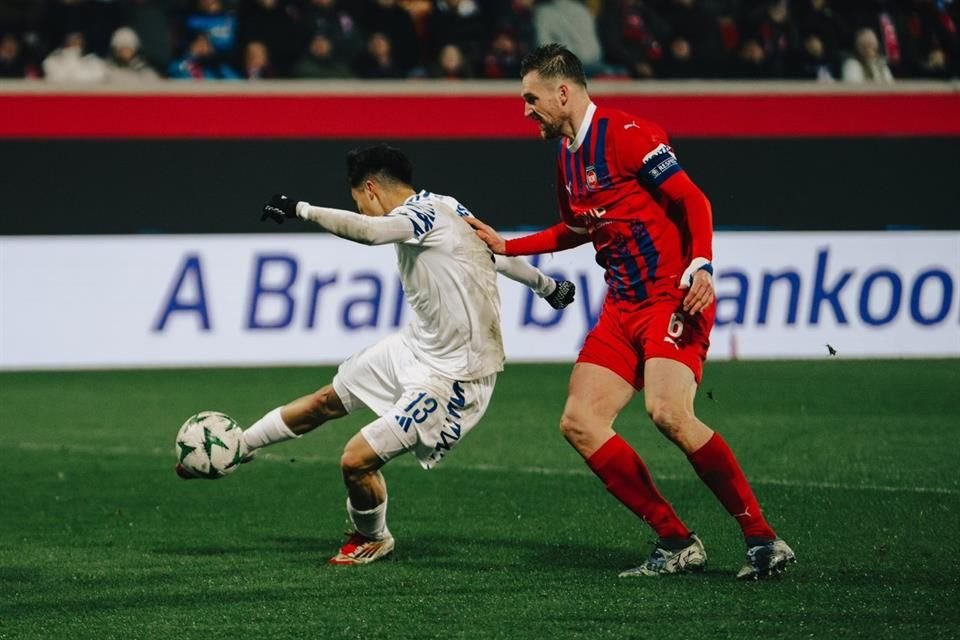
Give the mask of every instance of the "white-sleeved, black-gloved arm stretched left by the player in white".
[[283, 195], [274, 195], [263, 205], [261, 220], [301, 218], [314, 222], [330, 233], [360, 244], [375, 245], [405, 242], [414, 237], [410, 221], [400, 216], [370, 217], [343, 209], [315, 207]]

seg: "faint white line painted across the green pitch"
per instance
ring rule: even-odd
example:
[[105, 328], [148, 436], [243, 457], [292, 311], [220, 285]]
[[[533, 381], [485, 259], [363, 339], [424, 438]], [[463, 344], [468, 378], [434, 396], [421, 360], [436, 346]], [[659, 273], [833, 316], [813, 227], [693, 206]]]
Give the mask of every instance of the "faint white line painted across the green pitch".
[[[173, 447], [170, 449], [161, 449], [159, 447], [152, 447], [149, 449], [140, 449], [137, 447], [128, 447], [123, 445], [112, 445], [112, 446], [98, 446], [92, 444], [55, 444], [49, 442], [18, 442], [15, 445], [16, 448], [22, 449], [24, 451], [59, 451], [63, 453], [79, 453], [79, 454], [91, 454], [91, 455], [112, 455], [112, 456], [125, 456], [125, 455], [149, 455], [155, 457], [169, 457], [170, 463], [174, 462], [174, 451]], [[340, 456], [339, 453], [336, 456], [304, 456], [304, 455], [278, 455], [275, 453], [268, 453], [261, 451], [257, 454], [256, 461], [264, 461], [270, 463], [284, 463], [289, 464], [289, 460], [294, 458], [298, 464], [339, 464]], [[432, 472], [436, 473], [437, 471], [481, 471], [481, 472], [492, 472], [492, 473], [526, 473], [530, 475], [541, 475], [541, 476], [592, 476], [587, 469], [584, 468], [555, 468], [555, 467], [536, 467], [536, 466], [506, 466], [506, 465], [494, 465], [494, 464], [456, 464], [448, 463], [443, 466], [436, 467]], [[696, 475], [691, 471], [689, 475], [671, 475], [671, 474], [658, 474], [655, 480], [668, 480], [668, 481], [693, 481], [697, 480]], [[918, 487], [918, 486], [892, 486], [892, 485], [881, 485], [881, 484], [850, 484], [844, 482], [816, 482], [816, 481], [807, 481], [807, 480], [789, 480], [783, 478], [750, 478], [750, 483], [755, 485], [770, 485], [776, 487], [798, 487], [798, 488], [808, 488], [808, 489], [838, 489], [842, 491], [880, 491], [883, 493], [932, 493], [940, 495], [960, 495], [960, 489], [951, 488], [951, 487]]]

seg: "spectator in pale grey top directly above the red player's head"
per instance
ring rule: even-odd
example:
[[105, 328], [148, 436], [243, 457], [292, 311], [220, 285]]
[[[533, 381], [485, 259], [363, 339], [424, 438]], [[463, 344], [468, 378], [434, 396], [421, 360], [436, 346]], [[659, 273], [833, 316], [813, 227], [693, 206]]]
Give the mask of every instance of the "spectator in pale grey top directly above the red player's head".
[[537, 45], [556, 42], [570, 49], [587, 75], [605, 70], [593, 15], [578, 0], [545, 0], [533, 7]]

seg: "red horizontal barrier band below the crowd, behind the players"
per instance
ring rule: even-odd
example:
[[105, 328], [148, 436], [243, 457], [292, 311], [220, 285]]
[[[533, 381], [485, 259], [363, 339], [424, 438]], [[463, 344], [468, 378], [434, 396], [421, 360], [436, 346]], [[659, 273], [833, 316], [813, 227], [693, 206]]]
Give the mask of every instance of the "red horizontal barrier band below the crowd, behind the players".
[[[368, 89], [369, 91], [370, 89]], [[376, 89], [373, 89], [376, 91]], [[707, 138], [958, 136], [960, 93], [603, 92], [597, 100]], [[531, 138], [518, 95], [0, 93], [0, 138]]]

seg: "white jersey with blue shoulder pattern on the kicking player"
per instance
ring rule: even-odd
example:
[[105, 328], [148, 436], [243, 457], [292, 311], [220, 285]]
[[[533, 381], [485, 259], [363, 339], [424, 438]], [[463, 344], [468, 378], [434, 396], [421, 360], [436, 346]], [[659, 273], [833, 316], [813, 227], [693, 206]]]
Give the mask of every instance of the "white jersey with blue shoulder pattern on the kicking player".
[[401, 335], [429, 367], [454, 380], [503, 370], [500, 293], [493, 254], [460, 220], [470, 212], [449, 196], [420, 191], [389, 214], [413, 225], [397, 263], [416, 317]]

